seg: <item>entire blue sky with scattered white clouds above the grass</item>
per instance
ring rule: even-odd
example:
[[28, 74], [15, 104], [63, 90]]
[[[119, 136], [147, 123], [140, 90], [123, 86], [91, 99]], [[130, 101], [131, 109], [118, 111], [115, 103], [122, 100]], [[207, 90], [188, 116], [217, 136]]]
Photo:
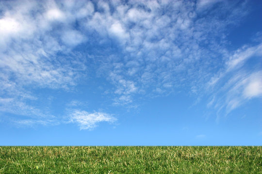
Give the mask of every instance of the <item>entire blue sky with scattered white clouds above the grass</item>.
[[0, 0], [0, 145], [262, 145], [261, 0]]

